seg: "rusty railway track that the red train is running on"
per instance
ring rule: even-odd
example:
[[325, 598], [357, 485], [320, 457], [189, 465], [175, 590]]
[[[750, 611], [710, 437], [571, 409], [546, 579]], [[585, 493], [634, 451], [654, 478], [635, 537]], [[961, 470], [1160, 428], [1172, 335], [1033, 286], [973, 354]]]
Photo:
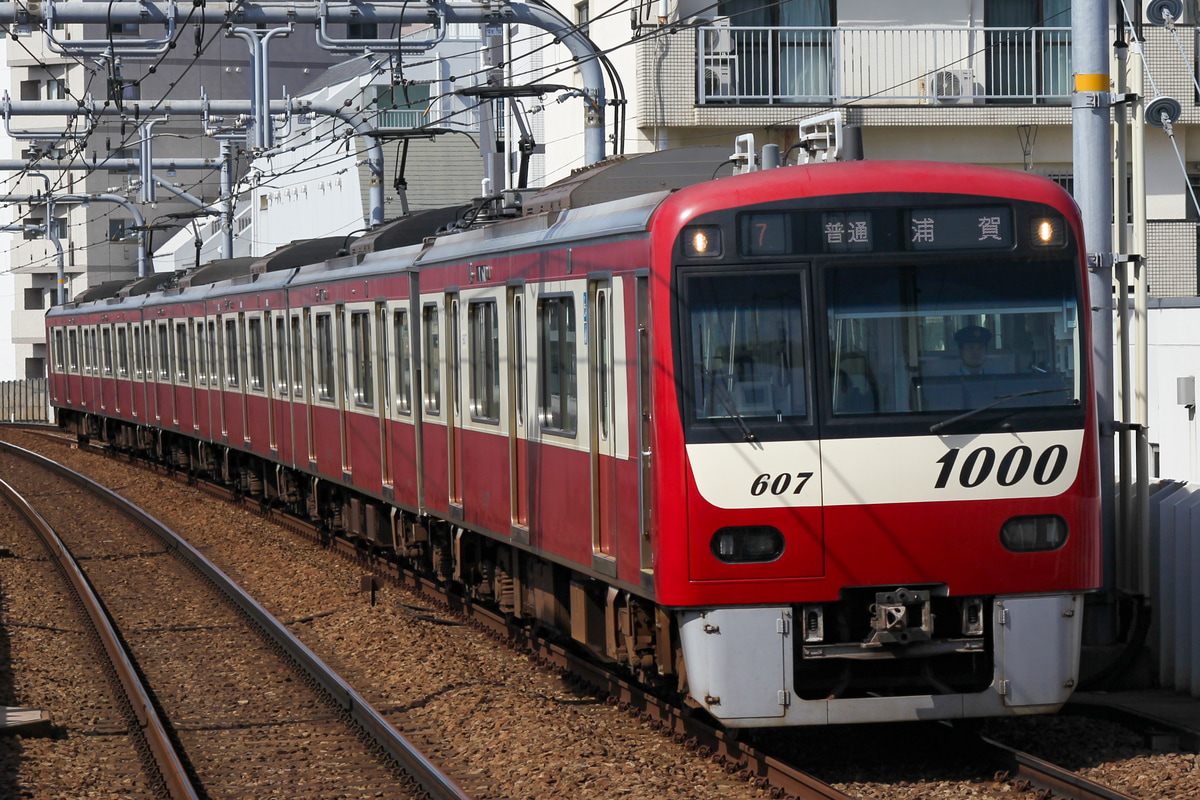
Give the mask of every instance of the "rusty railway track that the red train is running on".
[[[156, 468], [157, 469], [157, 468]], [[160, 470], [161, 471], [161, 470]], [[221, 487], [204, 487], [203, 491], [227, 499], [238, 500]], [[322, 541], [322, 533], [304, 521], [287, 518], [277, 511], [260, 507], [250, 501], [247, 509], [302, 534]], [[328, 543], [328, 542], [325, 542]], [[490, 631], [496, 638], [506, 639], [534, 654], [539, 661], [570, 674], [572, 680], [586, 682], [600, 693], [607, 703], [628, 711], [641, 723], [649, 724], [664, 735], [685, 745], [698, 756], [710, 759], [730, 774], [749, 781], [775, 798], [847, 798], [846, 794], [806, 774], [788, 758], [788, 753], [773, 747], [756, 747], [749, 741], [730, 736], [713, 728], [688, 711], [672, 706], [665, 700], [648, 696], [638, 686], [619, 675], [608, 673], [594, 663], [577, 658], [569, 650], [535, 637], [528, 630], [509, 624], [504, 618], [469, 601], [446, 595], [444, 587], [421, 576], [400, 570], [395, 564], [358, 549], [352, 542], [334, 540], [331, 547], [371, 572], [377, 581], [394, 583], [434, 600], [443, 608], [460, 614], [462, 619]], [[955, 746], [962, 748], [967, 738], [959, 730], [950, 736]], [[1004, 789], [1030, 790], [1031, 796], [1070, 798], [1079, 800], [1122, 800], [1129, 795], [1086, 780], [1069, 770], [1062, 770], [1027, 753], [1003, 747], [997, 742], [970, 739], [971, 758], [978, 764], [978, 774], [991, 775]]]

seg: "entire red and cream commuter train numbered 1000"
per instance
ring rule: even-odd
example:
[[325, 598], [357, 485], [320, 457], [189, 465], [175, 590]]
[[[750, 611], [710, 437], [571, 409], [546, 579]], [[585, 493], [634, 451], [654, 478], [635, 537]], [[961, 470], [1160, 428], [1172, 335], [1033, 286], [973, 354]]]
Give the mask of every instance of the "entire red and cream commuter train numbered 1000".
[[416, 215], [349, 254], [55, 307], [59, 423], [455, 581], [726, 726], [1057, 709], [1100, 584], [1070, 197], [914, 162], [620, 197], [662, 158], [511, 219], [432, 236]]

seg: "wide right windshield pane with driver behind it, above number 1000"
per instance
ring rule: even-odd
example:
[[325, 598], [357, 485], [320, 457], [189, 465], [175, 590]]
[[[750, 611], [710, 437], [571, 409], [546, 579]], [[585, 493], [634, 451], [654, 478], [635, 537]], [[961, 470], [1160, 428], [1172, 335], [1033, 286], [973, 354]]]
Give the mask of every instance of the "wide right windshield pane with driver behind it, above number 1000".
[[1078, 405], [1076, 295], [1069, 260], [832, 269], [833, 414]]

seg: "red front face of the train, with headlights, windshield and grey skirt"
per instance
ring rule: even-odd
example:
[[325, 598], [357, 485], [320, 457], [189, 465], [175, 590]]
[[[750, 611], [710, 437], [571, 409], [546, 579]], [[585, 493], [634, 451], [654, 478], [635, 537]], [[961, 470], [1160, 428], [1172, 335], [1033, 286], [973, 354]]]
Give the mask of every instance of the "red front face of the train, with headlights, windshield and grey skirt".
[[655, 588], [715, 717], [1066, 702], [1100, 583], [1080, 231], [1050, 181], [961, 166], [779, 169], [666, 201]]

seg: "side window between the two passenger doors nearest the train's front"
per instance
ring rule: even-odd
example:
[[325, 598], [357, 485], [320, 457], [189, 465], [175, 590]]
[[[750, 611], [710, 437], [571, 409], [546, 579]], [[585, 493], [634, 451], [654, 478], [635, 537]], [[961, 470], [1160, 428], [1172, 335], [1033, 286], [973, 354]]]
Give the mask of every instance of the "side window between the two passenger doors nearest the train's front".
[[575, 299], [538, 301], [538, 417], [545, 431], [574, 435], [578, 417]]

